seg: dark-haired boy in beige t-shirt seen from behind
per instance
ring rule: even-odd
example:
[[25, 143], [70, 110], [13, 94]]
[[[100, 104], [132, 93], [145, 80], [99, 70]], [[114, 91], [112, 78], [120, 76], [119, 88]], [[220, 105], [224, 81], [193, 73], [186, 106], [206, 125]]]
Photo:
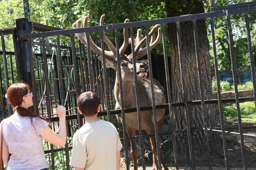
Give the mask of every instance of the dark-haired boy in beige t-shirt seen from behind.
[[75, 170], [119, 170], [122, 143], [114, 125], [98, 119], [98, 96], [85, 92], [78, 97], [77, 106], [86, 123], [73, 136], [70, 165]]

